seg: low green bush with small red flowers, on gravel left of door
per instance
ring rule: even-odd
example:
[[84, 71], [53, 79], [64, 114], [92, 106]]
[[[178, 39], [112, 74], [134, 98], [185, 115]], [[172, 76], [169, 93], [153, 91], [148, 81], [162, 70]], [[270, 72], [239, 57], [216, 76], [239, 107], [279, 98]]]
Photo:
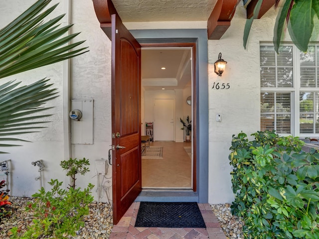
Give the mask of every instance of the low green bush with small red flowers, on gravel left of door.
[[34, 213], [33, 224], [27, 231], [20, 235], [18, 228], [11, 229], [13, 239], [37, 239], [40, 236], [53, 236], [63, 239], [67, 236], [76, 236], [76, 231], [84, 227], [84, 216], [89, 214], [89, 203], [93, 202], [89, 184], [84, 191], [80, 188], [69, 190], [61, 189], [62, 182], [51, 179], [51, 192], [45, 192], [42, 187], [26, 210]]

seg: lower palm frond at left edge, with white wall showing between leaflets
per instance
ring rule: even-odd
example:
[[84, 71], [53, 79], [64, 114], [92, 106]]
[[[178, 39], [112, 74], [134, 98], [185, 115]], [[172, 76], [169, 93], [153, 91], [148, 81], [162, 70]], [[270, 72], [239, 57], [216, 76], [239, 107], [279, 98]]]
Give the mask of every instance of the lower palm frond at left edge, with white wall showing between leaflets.
[[[48, 101], [57, 97], [56, 89], [48, 89], [48, 79], [41, 79], [28, 86], [19, 86], [21, 82], [10, 81], [0, 86], [0, 141], [27, 141], [19, 138], [7, 137], [38, 130], [45, 126], [38, 126], [48, 121], [50, 114], [39, 115], [42, 111], [52, 107], [44, 107]], [[34, 121], [34, 120], [39, 121]], [[0, 144], [0, 147], [18, 146], [17, 144]], [[4, 152], [0, 152], [4, 153]]]

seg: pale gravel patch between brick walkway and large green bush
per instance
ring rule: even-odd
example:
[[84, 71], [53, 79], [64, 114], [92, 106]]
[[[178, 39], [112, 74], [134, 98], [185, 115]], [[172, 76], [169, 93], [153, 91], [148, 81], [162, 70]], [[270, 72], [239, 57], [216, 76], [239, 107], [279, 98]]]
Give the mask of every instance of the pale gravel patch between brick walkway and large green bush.
[[233, 216], [230, 212], [230, 204], [214, 204], [211, 205], [214, 214], [216, 215], [221, 229], [229, 239], [243, 239], [242, 228], [244, 222]]

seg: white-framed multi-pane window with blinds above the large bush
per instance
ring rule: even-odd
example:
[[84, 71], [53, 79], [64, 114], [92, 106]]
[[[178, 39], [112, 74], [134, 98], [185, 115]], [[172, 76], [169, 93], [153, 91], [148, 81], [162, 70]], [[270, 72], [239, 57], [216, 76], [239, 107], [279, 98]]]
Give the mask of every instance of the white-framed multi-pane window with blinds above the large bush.
[[260, 46], [261, 130], [319, 133], [319, 45], [300, 52], [293, 44]]

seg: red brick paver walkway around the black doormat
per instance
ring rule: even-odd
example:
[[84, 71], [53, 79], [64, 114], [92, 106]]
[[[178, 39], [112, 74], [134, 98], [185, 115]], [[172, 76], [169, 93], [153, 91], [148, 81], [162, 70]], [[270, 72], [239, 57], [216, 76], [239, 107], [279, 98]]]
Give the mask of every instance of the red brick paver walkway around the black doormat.
[[209, 204], [198, 204], [204, 228], [135, 228], [140, 202], [135, 202], [112, 229], [109, 239], [226, 239]]

